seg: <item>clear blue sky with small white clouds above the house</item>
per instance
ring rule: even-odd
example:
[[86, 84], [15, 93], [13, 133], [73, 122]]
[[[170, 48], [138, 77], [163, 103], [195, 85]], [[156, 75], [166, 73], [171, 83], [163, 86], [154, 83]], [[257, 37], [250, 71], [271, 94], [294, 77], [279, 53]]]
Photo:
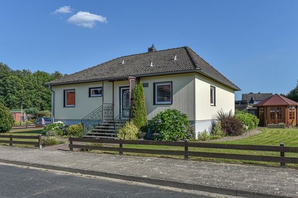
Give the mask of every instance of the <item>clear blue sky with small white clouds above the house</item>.
[[[63, 7], [64, 6], [64, 7]], [[298, 80], [298, 0], [0, 0], [0, 61], [74, 73], [109, 59], [189, 46], [242, 89]]]

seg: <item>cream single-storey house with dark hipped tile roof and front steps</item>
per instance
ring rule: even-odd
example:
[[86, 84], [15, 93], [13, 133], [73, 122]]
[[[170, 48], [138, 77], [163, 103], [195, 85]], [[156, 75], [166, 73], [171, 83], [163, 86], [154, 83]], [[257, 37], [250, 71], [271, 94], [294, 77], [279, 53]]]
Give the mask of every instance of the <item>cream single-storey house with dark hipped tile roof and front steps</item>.
[[208, 131], [218, 110], [233, 111], [234, 92], [240, 90], [192, 49], [152, 46], [46, 83], [52, 89], [53, 119], [70, 125], [130, 116], [139, 81], [149, 120], [175, 108], [188, 115], [196, 132]]

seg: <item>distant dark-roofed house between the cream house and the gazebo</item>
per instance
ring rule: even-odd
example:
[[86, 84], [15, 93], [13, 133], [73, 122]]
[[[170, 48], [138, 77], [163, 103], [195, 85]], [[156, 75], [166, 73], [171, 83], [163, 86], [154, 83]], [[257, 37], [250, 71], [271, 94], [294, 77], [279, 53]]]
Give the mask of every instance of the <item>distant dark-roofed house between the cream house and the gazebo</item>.
[[272, 96], [272, 93], [252, 93], [242, 94], [242, 100], [235, 100], [235, 109], [257, 115], [257, 108], [254, 104], [261, 102]]

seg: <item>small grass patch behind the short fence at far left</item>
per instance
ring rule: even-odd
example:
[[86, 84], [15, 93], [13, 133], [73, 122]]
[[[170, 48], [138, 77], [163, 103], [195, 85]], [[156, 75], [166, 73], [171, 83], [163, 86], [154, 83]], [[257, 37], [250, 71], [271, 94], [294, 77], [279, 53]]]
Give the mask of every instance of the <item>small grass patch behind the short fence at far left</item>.
[[[29, 128], [29, 129], [13, 129], [10, 130], [9, 133], [0, 133], [0, 140], [9, 140], [9, 138], [1, 138], [1, 135], [9, 135], [9, 134], [13, 134], [13, 135], [20, 135], [20, 136], [38, 136], [42, 131], [42, 128]], [[37, 139], [13, 139], [13, 141], [21, 141], [21, 142], [38, 142]], [[9, 144], [5, 144], [5, 143], [0, 143], [0, 145], [7, 145], [9, 146]], [[17, 144], [13, 144], [14, 146], [17, 147], [34, 147], [32, 145], [17, 145]]]

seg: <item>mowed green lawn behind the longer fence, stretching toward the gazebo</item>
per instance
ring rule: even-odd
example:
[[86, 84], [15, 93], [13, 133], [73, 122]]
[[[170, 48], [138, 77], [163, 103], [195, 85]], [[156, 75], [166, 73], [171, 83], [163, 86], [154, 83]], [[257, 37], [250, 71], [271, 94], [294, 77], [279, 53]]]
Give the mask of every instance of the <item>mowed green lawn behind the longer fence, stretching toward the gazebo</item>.
[[[214, 142], [214, 144], [239, 144], [239, 145], [267, 145], [267, 146], [279, 146], [280, 143], [284, 143], [288, 147], [298, 147], [298, 128], [295, 129], [261, 129], [262, 133], [241, 139], [236, 141], [224, 141]], [[119, 147], [119, 146], [114, 146]], [[147, 146], [147, 145], [123, 145], [124, 148], [141, 148], [141, 149], [164, 149], [164, 150], [184, 150], [184, 147], [170, 147], [170, 146]], [[253, 151], [253, 150], [236, 150], [236, 149], [216, 149], [216, 148], [191, 148], [190, 151], [201, 152], [217, 152], [217, 153], [230, 153], [230, 154], [247, 154], [247, 155], [265, 155], [265, 156], [280, 156], [279, 152], [268, 151]], [[103, 151], [95, 151], [103, 152]], [[107, 152], [107, 151], [104, 151]], [[109, 152], [108, 153], [117, 153]], [[128, 153], [125, 155], [135, 156], [150, 156], [150, 157], [170, 157], [183, 159], [184, 156], [176, 155], [158, 155], [158, 154], [144, 154], [144, 153]], [[285, 153], [286, 157], [298, 157], [298, 153]], [[275, 162], [257, 162], [249, 160], [234, 160], [234, 159], [219, 159], [219, 158], [205, 158], [189, 156], [191, 160], [204, 160], [204, 161], [217, 161], [217, 162], [232, 162], [232, 163], [250, 163], [250, 164], [262, 164], [279, 166], [279, 163]], [[291, 167], [298, 167], [298, 164], [286, 164]]]

